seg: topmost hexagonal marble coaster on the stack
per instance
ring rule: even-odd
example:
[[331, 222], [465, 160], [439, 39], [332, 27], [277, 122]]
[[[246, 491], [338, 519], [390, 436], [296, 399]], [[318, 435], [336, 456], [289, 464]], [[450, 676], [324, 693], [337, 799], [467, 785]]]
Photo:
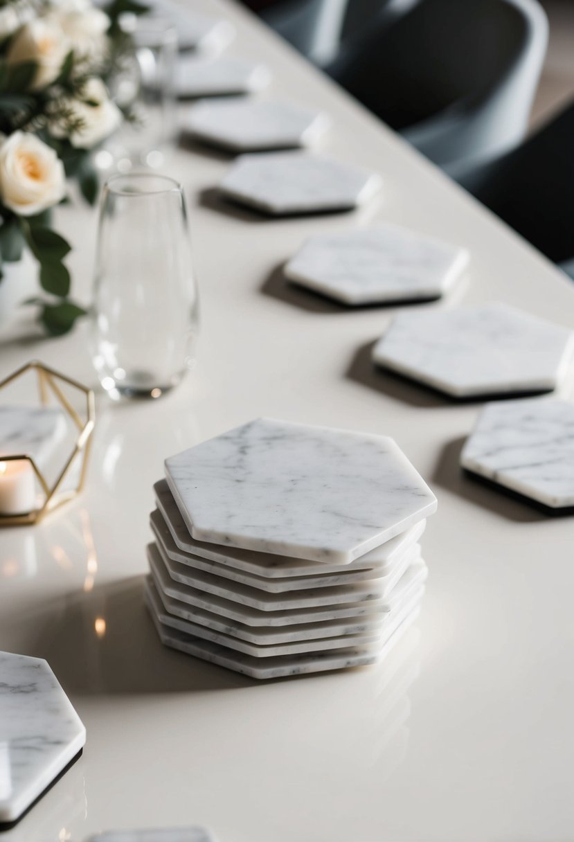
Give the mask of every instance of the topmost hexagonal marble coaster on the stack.
[[196, 540], [316, 562], [348, 564], [437, 506], [394, 440], [272, 418], [165, 466]]

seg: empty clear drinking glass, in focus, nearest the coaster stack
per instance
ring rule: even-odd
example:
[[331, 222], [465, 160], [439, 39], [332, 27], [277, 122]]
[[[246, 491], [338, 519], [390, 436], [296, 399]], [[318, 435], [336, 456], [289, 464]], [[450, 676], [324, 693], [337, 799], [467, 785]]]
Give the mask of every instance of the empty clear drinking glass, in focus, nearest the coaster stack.
[[199, 299], [183, 188], [116, 175], [100, 202], [93, 364], [110, 397], [160, 397], [194, 364]]

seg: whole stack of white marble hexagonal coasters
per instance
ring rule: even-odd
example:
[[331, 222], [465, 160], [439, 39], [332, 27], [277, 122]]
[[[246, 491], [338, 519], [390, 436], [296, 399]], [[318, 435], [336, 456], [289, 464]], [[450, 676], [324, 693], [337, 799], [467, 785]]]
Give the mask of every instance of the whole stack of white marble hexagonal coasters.
[[394, 440], [262, 418], [166, 477], [146, 600], [167, 646], [276, 678], [375, 663], [416, 618], [436, 498]]

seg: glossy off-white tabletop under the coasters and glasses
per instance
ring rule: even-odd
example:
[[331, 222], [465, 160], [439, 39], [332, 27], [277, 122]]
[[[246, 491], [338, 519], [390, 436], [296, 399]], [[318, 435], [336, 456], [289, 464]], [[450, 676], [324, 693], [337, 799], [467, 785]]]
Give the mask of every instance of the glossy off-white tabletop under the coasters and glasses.
[[[327, 151], [380, 172], [384, 191], [356, 213], [269, 221], [215, 202], [225, 156], [178, 153], [197, 370], [155, 403], [100, 397], [82, 498], [0, 534], [0, 648], [47, 658], [88, 729], [82, 759], [3, 839], [194, 823], [221, 842], [571, 838], [574, 521], [461, 476], [479, 405], [371, 369], [365, 349], [392, 310], [343, 311], [277, 268], [312, 233], [376, 219], [469, 249], [450, 302], [507, 301], [574, 327], [574, 285], [242, 8], [196, 5], [236, 22], [230, 49], [273, 69], [270, 93], [327, 110]], [[67, 208], [60, 223], [88, 296], [94, 217]], [[84, 330], [3, 341], [2, 374], [38, 357], [93, 383]], [[390, 434], [438, 496], [422, 615], [380, 667], [258, 684], [157, 641], [142, 582], [162, 461], [261, 415]]]

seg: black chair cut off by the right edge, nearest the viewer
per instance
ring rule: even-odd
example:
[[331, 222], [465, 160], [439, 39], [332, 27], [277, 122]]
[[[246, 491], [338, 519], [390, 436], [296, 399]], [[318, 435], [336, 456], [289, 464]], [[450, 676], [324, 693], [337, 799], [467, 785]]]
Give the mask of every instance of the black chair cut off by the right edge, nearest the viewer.
[[457, 180], [546, 257], [574, 271], [574, 103], [521, 147]]

